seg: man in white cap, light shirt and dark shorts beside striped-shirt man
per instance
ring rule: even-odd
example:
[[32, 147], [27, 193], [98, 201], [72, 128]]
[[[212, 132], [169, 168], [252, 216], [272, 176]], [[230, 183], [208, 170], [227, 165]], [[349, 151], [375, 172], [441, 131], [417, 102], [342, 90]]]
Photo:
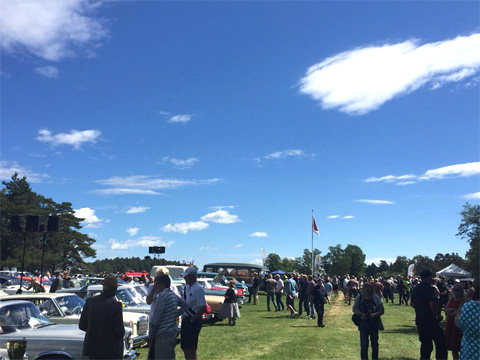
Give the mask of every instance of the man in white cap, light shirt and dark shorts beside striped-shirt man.
[[182, 274], [185, 279], [183, 300], [189, 309], [183, 314], [181, 328], [181, 347], [185, 359], [197, 359], [198, 336], [202, 330], [202, 315], [207, 311], [207, 302], [203, 288], [197, 282], [197, 270], [189, 266]]

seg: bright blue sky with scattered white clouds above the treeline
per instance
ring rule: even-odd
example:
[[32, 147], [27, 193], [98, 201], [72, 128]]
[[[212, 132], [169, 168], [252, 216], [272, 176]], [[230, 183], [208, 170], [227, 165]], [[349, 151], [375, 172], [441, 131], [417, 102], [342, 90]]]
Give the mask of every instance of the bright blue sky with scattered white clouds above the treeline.
[[479, 3], [5, 0], [1, 167], [98, 258], [465, 254]]

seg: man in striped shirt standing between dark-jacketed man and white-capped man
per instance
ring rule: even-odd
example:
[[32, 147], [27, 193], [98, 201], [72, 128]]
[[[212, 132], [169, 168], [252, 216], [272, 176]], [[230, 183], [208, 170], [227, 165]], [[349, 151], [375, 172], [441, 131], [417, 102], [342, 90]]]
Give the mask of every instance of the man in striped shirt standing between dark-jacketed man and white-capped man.
[[175, 359], [178, 325], [177, 318], [189, 309], [188, 304], [170, 289], [168, 275], [155, 277], [155, 312], [150, 319], [150, 337], [153, 337], [154, 359]]

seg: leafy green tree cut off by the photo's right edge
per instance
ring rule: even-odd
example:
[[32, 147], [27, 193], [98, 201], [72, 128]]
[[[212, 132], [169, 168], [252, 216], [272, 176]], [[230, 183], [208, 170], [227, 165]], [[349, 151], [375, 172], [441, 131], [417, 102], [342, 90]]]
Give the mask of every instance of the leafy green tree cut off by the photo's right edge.
[[463, 205], [460, 213], [462, 220], [458, 226], [458, 234], [461, 239], [465, 239], [470, 244], [467, 251], [467, 269], [474, 274], [479, 275], [480, 266], [480, 205], [470, 205], [468, 202]]

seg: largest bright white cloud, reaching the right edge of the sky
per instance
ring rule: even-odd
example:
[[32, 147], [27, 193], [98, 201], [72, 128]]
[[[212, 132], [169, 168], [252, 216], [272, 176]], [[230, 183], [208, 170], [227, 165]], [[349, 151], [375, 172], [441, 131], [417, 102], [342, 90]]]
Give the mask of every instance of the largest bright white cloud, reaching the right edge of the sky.
[[365, 114], [394, 97], [422, 86], [438, 88], [478, 73], [480, 34], [420, 44], [359, 47], [311, 66], [300, 80], [300, 92], [324, 109]]

